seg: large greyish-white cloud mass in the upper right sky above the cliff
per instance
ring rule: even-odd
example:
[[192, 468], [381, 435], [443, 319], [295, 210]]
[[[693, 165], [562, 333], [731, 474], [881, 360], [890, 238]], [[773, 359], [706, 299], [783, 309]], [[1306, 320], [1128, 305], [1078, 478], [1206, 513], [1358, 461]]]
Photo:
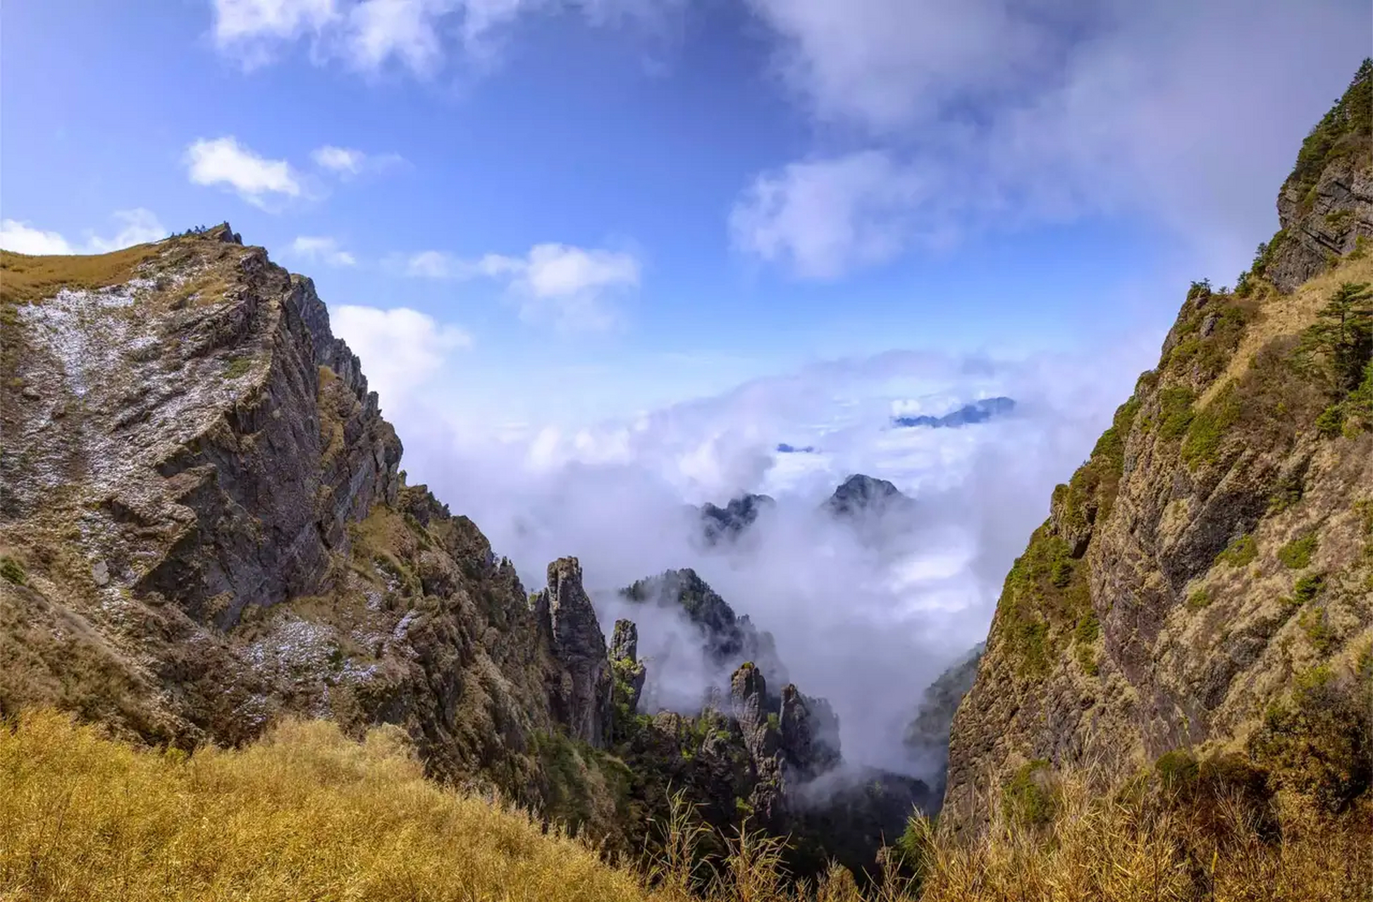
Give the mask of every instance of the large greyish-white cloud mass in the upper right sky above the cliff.
[[[1300, 136], [1368, 52], [1368, 7], [1350, 0], [750, 5], [827, 147], [857, 150], [762, 173], [730, 227], [822, 277], [923, 236], [1101, 213], [1144, 214], [1237, 269], [1273, 229]], [[842, 225], [807, 216], [817, 194]]]

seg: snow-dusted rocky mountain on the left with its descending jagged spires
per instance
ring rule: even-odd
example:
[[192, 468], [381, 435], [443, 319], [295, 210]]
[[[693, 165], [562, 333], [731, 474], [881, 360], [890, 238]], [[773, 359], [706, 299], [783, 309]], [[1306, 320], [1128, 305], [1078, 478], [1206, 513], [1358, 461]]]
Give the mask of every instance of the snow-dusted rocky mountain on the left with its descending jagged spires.
[[0, 714], [52, 706], [183, 750], [286, 715], [390, 724], [431, 777], [610, 851], [655, 842], [685, 788], [714, 826], [795, 833], [805, 873], [872, 866], [932, 803], [895, 774], [802, 795], [838, 777], [833, 717], [695, 574], [702, 641], [739, 670], [699, 713], [641, 715], [633, 623], [607, 648], [575, 559], [530, 594], [408, 485], [310, 280], [227, 224], [0, 266]]

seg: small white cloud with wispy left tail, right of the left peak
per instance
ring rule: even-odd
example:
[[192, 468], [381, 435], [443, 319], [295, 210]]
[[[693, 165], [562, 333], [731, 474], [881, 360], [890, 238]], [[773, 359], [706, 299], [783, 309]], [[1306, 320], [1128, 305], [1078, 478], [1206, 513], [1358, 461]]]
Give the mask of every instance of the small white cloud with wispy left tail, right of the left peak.
[[638, 287], [641, 264], [633, 254], [573, 244], [533, 246], [523, 257], [485, 254], [461, 258], [427, 250], [391, 261], [422, 279], [493, 279], [504, 283], [520, 319], [560, 331], [605, 331], [619, 325], [616, 292]]

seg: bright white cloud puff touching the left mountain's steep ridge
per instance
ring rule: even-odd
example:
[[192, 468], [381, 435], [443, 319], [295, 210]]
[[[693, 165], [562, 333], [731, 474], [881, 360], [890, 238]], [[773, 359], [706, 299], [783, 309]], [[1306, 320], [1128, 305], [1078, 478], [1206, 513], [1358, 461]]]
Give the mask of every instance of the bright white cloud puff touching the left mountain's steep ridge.
[[454, 350], [470, 347], [471, 335], [409, 308], [343, 305], [330, 310], [334, 334], [362, 361], [371, 387], [383, 405], [411, 404], [416, 391], [439, 373]]

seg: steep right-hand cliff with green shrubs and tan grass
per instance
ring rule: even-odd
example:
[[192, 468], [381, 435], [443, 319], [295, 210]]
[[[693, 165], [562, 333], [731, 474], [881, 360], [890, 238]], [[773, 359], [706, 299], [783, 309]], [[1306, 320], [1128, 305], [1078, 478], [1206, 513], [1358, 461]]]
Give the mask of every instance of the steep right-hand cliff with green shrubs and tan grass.
[[1054, 490], [954, 718], [950, 822], [1054, 767], [1225, 762], [1265, 811], [1369, 825], [1370, 111], [1365, 62], [1302, 147], [1282, 229], [1233, 288], [1192, 286], [1159, 367]]

